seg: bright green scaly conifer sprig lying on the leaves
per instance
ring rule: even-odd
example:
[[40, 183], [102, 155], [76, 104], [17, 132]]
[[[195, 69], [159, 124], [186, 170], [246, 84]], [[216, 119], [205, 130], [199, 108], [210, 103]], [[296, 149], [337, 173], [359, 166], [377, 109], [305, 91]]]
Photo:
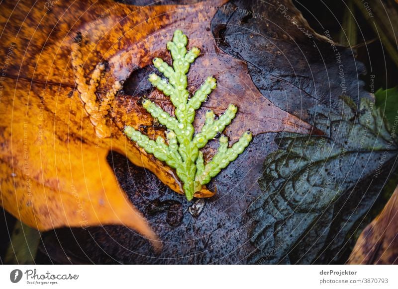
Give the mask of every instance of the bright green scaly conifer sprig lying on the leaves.
[[191, 64], [199, 56], [200, 50], [193, 47], [187, 51], [187, 44], [187, 36], [181, 30], [176, 30], [173, 41], [167, 43], [167, 49], [173, 59], [173, 67], [160, 58], [153, 60], [154, 66], [163, 73], [168, 81], [155, 73], [149, 76], [149, 81], [156, 88], [170, 96], [170, 100], [175, 106], [175, 117], [149, 99], [145, 99], [142, 103], [153, 118], [158, 119], [160, 124], [168, 128], [167, 144], [162, 137], [153, 141], [130, 126], [124, 128], [124, 133], [146, 152], [176, 169], [178, 177], [184, 183], [185, 195], [191, 201], [194, 194], [200, 191], [203, 185], [207, 184], [212, 177], [215, 177], [221, 169], [245, 150], [252, 140], [252, 134], [249, 131], [245, 132], [232, 147], [228, 147], [228, 138], [221, 135], [216, 154], [208, 163], [204, 164], [203, 154], [199, 148], [215, 138], [218, 133], [222, 133], [235, 118], [237, 107], [230, 104], [217, 119], [214, 112], [208, 110], [201, 132], [194, 136], [195, 129], [192, 123], [195, 119], [195, 111], [207, 99], [217, 83], [214, 77], [207, 77], [200, 88], [190, 97], [187, 90], [187, 73]]

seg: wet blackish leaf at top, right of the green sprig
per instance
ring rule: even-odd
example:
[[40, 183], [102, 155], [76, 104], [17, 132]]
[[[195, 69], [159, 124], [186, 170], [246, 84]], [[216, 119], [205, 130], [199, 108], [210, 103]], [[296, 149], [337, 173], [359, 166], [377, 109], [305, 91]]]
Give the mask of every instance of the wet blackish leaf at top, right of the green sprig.
[[300, 119], [319, 106], [339, 112], [339, 95], [358, 103], [368, 94], [355, 52], [316, 34], [291, 1], [230, 1], [212, 31], [223, 51], [247, 62], [263, 96]]

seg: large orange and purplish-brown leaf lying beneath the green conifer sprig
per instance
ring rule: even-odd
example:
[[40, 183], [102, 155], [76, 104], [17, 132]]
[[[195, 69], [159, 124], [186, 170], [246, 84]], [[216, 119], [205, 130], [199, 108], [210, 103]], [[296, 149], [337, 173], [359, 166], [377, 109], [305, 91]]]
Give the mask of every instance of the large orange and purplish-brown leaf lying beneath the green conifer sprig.
[[[172, 169], [121, 133], [125, 125], [139, 128], [153, 124], [137, 97], [117, 96], [107, 122], [111, 138], [96, 137], [74, 89], [70, 54], [78, 32], [83, 34], [88, 77], [100, 61], [109, 62], [100, 83], [101, 91], [106, 91], [115, 80], [124, 80], [149, 65], [155, 56], [169, 59], [166, 42], [175, 29], [182, 29], [190, 38], [189, 46], [198, 46], [203, 54], [189, 73], [190, 89], [198, 88], [210, 74], [218, 81], [216, 91], [198, 113], [197, 129], [206, 109], [219, 113], [234, 103], [239, 113], [226, 131], [231, 143], [247, 129], [253, 134], [309, 134], [310, 125], [260, 94], [244, 62], [216, 47], [209, 27], [214, 6], [224, 2], [148, 7], [113, 1], [57, 1], [51, 7], [34, 1], [1, 4], [0, 59], [6, 59], [7, 48], [14, 46], [0, 103], [1, 206], [41, 230], [112, 223], [129, 226], [155, 240], [149, 225], [118, 186], [106, 161], [109, 150], [127, 155], [132, 163], [149, 169], [182, 193]], [[156, 90], [149, 98], [166, 109], [171, 107]], [[163, 133], [155, 130], [149, 135]], [[201, 192], [197, 197], [211, 194]]]

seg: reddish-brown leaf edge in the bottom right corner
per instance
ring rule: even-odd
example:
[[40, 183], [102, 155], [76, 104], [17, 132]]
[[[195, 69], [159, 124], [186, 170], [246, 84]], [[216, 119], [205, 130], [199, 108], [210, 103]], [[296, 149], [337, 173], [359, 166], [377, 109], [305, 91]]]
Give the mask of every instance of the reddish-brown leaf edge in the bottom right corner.
[[361, 233], [348, 264], [398, 264], [398, 187]]

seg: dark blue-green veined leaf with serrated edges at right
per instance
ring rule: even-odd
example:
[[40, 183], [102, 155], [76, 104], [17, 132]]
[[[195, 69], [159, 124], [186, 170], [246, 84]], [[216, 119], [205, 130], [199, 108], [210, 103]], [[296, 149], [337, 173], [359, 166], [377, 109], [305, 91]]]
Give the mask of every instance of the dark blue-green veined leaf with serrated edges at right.
[[340, 101], [343, 115], [317, 113], [325, 136], [276, 139], [259, 180], [264, 193], [248, 210], [258, 248], [249, 262], [330, 263], [341, 258], [343, 242], [355, 241], [346, 236], [376, 201], [387, 179], [380, 172], [398, 146], [374, 102], [362, 99], [352, 111], [351, 99]]

